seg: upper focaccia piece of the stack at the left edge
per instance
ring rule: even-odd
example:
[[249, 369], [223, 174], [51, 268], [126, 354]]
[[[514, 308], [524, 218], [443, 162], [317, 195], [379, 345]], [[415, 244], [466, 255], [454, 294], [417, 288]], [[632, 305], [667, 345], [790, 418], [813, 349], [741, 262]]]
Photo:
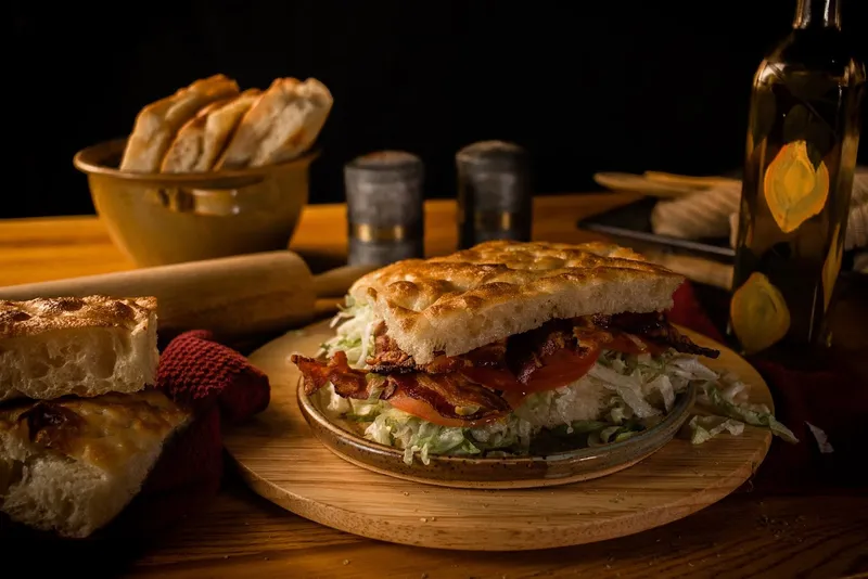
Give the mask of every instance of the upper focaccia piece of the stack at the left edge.
[[156, 381], [156, 298], [0, 300], [0, 401], [133, 393]]

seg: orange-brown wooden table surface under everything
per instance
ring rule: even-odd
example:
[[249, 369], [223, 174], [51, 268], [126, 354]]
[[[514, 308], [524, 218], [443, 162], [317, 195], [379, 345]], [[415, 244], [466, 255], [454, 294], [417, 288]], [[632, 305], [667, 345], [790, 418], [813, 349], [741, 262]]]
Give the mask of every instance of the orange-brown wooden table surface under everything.
[[[587, 241], [593, 236], [576, 230], [578, 218], [634, 198], [537, 198], [534, 236]], [[292, 248], [316, 269], [345, 258], [344, 210], [312, 206], [303, 216]], [[452, 202], [427, 203], [429, 254], [455, 247], [454, 223]], [[130, 268], [93, 217], [0, 221], [0, 285]], [[771, 454], [777, 450], [776, 440]], [[222, 490], [202, 513], [150, 544], [110, 551], [87, 542], [54, 544], [49, 553], [13, 541], [0, 543], [0, 552], [39, 549], [39, 558], [22, 558], [35, 577], [51, 561], [89, 578], [845, 577], [868, 570], [866, 489], [845, 483], [852, 481], [787, 492], [758, 491], [748, 483], [719, 503], [659, 529], [569, 549], [486, 554], [399, 546], [332, 530], [257, 497], [229, 469]]]

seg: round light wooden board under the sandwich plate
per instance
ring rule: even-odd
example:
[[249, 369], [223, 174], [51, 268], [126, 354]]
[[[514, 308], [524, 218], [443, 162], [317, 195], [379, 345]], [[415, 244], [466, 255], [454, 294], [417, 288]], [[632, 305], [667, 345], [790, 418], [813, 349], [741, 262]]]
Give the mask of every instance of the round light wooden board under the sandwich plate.
[[[316, 439], [298, 410], [292, 352], [311, 355], [331, 336], [328, 321], [267, 344], [251, 361], [271, 381], [271, 403], [225, 436], [242, 476], [258, 494], [305, 518], [371, 539], [471, 551], [520, 551], [589, 543], [659, 527], [732, 492], [760, 465], [771, 435], [746, 427], [701, 446], [676, 438], [636, 465], [557, 487], [455, 489], [378, 474], [342, 460]], [[771, 408], [756, 371], [733, 351], [707, 365], [751, 384], [751, 400]]]

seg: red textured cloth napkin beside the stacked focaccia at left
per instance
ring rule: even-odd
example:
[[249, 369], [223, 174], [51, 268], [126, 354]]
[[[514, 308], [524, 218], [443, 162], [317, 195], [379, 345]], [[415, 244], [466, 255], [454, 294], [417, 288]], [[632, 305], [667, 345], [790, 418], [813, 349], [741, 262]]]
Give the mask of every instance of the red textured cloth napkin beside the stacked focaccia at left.
[[139, 496], [105, 529], [150, 535], [187, 516], [219, 489], [221, 424], [245, 421], [268, 407], [268, 376], [205, 331], [173, 339], [159, 358], [156, 387], [194, 420], [164, 450]]

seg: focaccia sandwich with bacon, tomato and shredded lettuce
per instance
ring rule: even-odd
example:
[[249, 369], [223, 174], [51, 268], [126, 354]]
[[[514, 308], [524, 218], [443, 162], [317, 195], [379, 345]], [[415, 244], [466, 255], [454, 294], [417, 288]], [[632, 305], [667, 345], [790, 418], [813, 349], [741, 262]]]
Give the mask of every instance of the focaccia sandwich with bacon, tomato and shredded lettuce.
[[665, 317], [684, 279], [630, 249], [493, 241], [359, 279], [308, 396], [419, 454], [527, 454], [540, 433], [622, 440], [717, 357]]

